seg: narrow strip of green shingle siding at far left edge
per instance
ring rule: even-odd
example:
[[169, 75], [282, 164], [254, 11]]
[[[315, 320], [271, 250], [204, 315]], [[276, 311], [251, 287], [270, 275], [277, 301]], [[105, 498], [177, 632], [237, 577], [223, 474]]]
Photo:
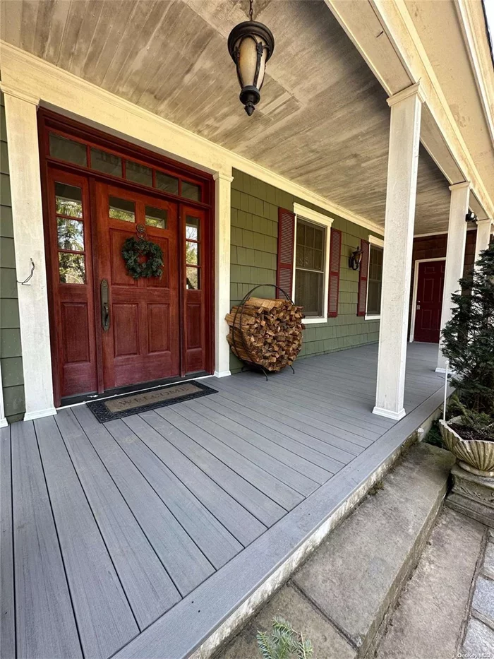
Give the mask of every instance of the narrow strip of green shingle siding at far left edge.
[[0, 360], [5, 415], [10, 422], [22, 419], [25, 412], [16, 279], [11, 186], [2, 95], [0, 100]]

